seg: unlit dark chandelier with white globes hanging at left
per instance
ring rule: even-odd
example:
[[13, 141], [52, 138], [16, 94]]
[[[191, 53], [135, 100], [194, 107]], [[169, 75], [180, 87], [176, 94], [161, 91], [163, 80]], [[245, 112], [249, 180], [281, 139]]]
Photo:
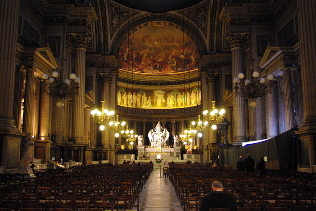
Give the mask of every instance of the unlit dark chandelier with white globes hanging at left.
[[60, 59], [60, 70], [59, 74], [57, 71], [52, 72], [51, 78], [48, 78], [47, 74], [42, 75], [42, 79], [49, 82], [49, 96], [55, 97], [58, 101], [56, 103], [57, 107], [63, 107], [64, 103], [62, 99], [67, 97], [78, 96], [79, 95], [79, 82], [80, 78], [76, 76], [75, 73], [70, 74], [70, 80], [64, 80], [64, 61], [62, 57]]

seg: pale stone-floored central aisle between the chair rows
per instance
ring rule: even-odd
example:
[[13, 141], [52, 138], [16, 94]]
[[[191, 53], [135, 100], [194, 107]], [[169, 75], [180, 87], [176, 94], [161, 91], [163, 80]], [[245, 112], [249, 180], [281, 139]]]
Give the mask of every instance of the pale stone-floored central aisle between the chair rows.
[[140, 211], [183, 211], [169, 178], [153, 171], [139, 195]]

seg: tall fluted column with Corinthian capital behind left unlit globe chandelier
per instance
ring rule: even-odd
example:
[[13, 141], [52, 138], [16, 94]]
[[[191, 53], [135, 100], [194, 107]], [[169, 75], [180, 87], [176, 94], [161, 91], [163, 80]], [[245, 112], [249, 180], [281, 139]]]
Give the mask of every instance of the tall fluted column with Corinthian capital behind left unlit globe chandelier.
[[76, 50], [75, 73], [80, 78], [79, 95], [74, 96], [72, 140], [77, 144], [85, 144], [84, 141], [84, 98], [85, 98], [85, 52], [90, 42], [90, 36], [69, 34], [68, 44]]

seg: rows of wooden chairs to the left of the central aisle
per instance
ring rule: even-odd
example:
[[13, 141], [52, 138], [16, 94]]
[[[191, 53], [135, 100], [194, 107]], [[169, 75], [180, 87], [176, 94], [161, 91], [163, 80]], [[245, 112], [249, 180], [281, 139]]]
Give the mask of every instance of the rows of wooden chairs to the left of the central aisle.
[[0, 209], [139, 210], [139, 193], [151, 171], [151, 166], [146, 164], [142, 168], [98, 164], [73, 173], [55, 172], [29, 180], [6, 180], [0, 184]]

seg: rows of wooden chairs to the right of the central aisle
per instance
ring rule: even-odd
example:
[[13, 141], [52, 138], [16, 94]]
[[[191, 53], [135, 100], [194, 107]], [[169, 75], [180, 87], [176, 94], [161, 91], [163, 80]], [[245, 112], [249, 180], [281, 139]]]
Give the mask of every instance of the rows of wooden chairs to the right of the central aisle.
[[239, 211], [316, 210], [316, 174], [268, 171], [262, 176], [208, 165], [172, 165], [170, 181], [184, 211], [198, 211], [211, 183], [221, 181]]

